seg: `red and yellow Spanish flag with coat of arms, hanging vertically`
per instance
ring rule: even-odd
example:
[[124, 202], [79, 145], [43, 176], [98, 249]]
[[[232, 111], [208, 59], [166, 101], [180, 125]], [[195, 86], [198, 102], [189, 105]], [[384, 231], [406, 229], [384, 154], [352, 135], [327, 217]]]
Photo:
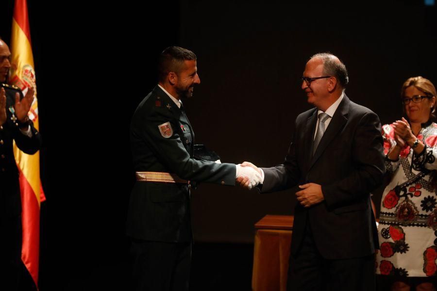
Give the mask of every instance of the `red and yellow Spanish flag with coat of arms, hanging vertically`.
[[[24, 93], [29, 87], [34, 88], [35, 97], [29, 111], [29, 118], [33, 120], [34, 127], [39, 129], [34, 56], [26, 0], [15, 0], [11, 35], [11, 83], [18, 86]], [[25, 154], [18, 149], [14, 142], [14, 155], [20, 172], [23, 226], [21, 259], [32, 275], [35, 285], [38, 286], [39, 210], [40, 203], [45, 200], [39, 176], [39, 151], [34, 155]]]

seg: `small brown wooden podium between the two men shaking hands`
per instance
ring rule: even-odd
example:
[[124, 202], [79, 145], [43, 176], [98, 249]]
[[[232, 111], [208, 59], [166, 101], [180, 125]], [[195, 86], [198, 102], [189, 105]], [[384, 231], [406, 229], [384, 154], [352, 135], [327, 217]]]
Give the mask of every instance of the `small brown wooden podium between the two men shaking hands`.
[[255, 224], [253, 291], [286, 291], [294, 216], [266, 215]]

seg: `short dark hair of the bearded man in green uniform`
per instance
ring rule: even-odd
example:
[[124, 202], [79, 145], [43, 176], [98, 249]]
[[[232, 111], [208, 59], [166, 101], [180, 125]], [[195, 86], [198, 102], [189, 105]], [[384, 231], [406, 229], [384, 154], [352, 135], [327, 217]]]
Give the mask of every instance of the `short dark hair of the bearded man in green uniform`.
[[169, 72], [180, 72], [184, 62], [191, 60], [197, 60], [197, 57], [189, 49], [176, 46], [164, 49], [158, 59], [159, 81], [164, 81]]

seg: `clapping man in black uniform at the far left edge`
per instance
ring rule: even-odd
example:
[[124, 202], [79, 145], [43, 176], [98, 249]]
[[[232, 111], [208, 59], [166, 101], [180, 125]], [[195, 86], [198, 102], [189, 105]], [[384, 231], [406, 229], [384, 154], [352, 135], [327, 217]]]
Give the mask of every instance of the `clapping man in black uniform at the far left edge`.
[[21, 263], [21, 198], [19, 172], [13, 152], [13, 141], [27, 154], [41, 145], [41, 136], [27, 113], [34, 99], [29, 88], [21, 90], [6, 83], [11, 67], [11, 52], [0, 39], [0, 284], [3, 290], [17, 290]]

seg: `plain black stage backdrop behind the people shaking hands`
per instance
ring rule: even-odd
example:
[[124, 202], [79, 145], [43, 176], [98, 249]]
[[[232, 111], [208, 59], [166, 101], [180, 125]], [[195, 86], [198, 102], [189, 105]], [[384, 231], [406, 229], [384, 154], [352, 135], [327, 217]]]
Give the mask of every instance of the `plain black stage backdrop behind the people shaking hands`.
[[[184, 104], [196, 143], [222, 162], [283, 161], [294, 119], [310, 108], [299, 77], [317, 52], [345, 63], [346, 93], [383, 124], [401, 117], [408, 77], [437, 82], [436, 7], [420, 0], [90, 3], [28, 0], [47, 197], [41, 291], [124, 290], [129, 123], [167, 46], [197, 54], [202, 83]], [[0, 35], [9, 43], [13, 1], [2, 4]], [[293, 191], [202, 184], [192, 203], [193, 289], [250, 290], [253, 224], [292, 214]]]

